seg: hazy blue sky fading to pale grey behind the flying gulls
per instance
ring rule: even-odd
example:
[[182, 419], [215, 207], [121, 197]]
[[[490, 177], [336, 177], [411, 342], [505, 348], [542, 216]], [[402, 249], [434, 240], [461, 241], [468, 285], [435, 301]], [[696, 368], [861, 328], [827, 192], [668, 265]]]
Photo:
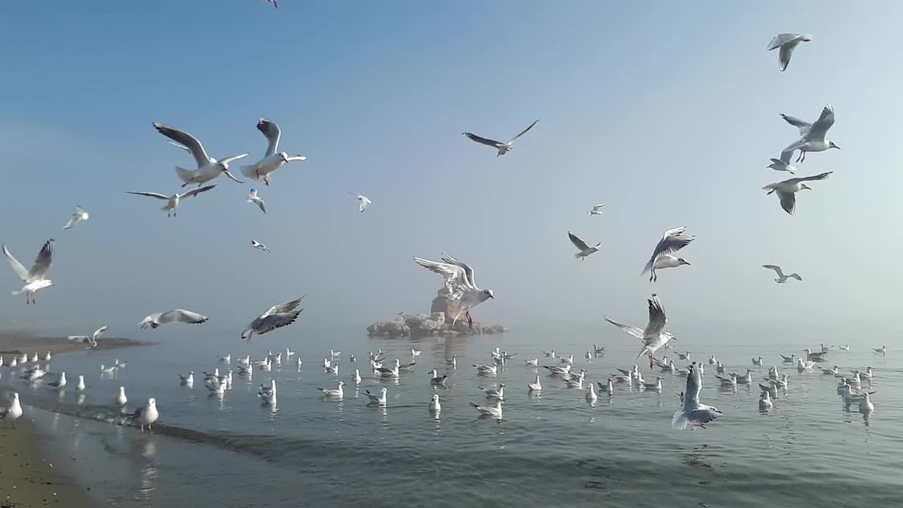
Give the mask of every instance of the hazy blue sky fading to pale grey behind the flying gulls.
[[[307, 323], [364, 327], [428, 311], [441, 280], [412, 257], [448, 251], [494, 290], [473, 313], [484, 323], [644, 325], [656, 292], [675, 334], [896, 334], [900, 14], [896, 2], [0, 1], [0, 241], [30, 265], [57, 240], [37, 306], [9, 296], [21, 284], [0, 269], [0, 326], [130, 333], [183, 307], [238, 333], [306, 293]], [[777, 33], [815, 37], [787, 72], [766, 51]], [[765, 167], [797, 137], [778, 114], [814, 120], [826, 104], [842, 150], [806, 158], [801, 175], [834, 173], [789, 216], [761, 190], [789, 177]], [[226, 178], [174, 219], [126, 194], [177, 192], [174, 166], [191, 167], [152, 122], [253, 162], [259, 118], [308, 157], [255, 185], [268, 214]], [[461, 136], [507, 139], [537, 118], [498, 158]], [[367, 212], [349, 191], [373, 200]], [[62, 230], [79, 203], [90, 221]], [[696, 236], [682, 250], [692, 266], [650, 283], [639, 272], [676, 226]], [[575, 260], [568, 230], [602, 250]], [[777, 285], [763, 264], [804, 282]]]

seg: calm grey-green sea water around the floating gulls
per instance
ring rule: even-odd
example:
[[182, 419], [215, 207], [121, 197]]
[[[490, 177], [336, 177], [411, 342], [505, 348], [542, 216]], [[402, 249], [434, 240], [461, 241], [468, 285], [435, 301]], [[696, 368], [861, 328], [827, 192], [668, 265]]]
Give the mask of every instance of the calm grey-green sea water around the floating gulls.
[[[23, 402], [65, 414], [118, 422], [112, 407], [119, 385], [126, 386], [131, 411], [148, 397], [157, 400], [160, 426], [154, 436], [107, 421], [39, 418], [55, 454], [78, 454], [71, 472], [94, 484], [92, 492], [111, 506], [195, 506], [205, 504], [256, 506], [272, 503], [350, 506], [374, 499], [397, 506], [535, 506], [566, 503], [595, 506], [600, 502], [625, 506], [753, 506], [762, 503], [816, 505], [842, 500], [857, 503], [897, 503], [903, 486], [903, 436], [897, 431], [903, 409], [895, 396], [903, 385], [903, 361], [893, 351], [886, 357], [865, 351], [834, 351], [830, 364], [842, 369], [872, 365], [870, 390], [876, 413], [863, 419], [855, 406], [847, 410], [836, 395], [833, 376], [821, 372], [790, 375], [789, 389], [778, 394], [767, 414], [758, 410], [759, 389], [740, 386], [721, 390], [714, 367], [705, 364], [702, 399], [724, 413], [708, 429], [675, 431], [671, 416], [679, 406], [676, 394], [684, 377], [662, 374], [661, 394], [616, 388], [613, 397], [597, 405], [585, 392], [564, 388], [545, 369], [526, 366], [554, 343], [562, 353], [574, 353], [575, 368], [587, 369], [588, 381], [605, 381], [616, 367], [629, 368], [638, 347], [627, 335], [605, 335], [606, 354], [587, 361], [583, 353], [598, 335], [512, 332], [476, 338], [423, 340], [373, 338], [359, 331], [312, 333], [295, 329], [257, 338], [247, 345], [234, 334], [208, 329], [169, 327], [154, 334], [161, 343], [113, 352], [63, 355], [51, 362], [52, 372], [67, 372], [70, 385], [58, 395], [43, 384], [30, 387], [13, 381]], [[303, 339], [300, 337], [304, 337]], [[824, 340], [824, 339], [820, 339]], [[694, 359], [715, 354], [728, 372], [744, 372], [750, 357], [762, 354], [765, 367], [753, 367], [754, 381], [767, 374], [777, 353], [798, 353], [812, 343], [723, 345], [701, 336], [682, 349], [699, 352]], [[228, 346], [227, 346], [228, 344]], [[267, 349], [291, 344], [304, 365], [285, 362], [271, 372], [256, 370], [250, 379], [235, 376], [222, 399], [203, 386], [202, 371], [227, 365], [216, 357], [232, 353], [261, 359]], [[708, 345], [706, 345], [708, 344]], [[712, 345], [715, 344], [715, 345]], [[495, 378], [478, 376], [470, 363], [489, 362], [498, 345], [517, 352], [515, 360]], [[411, 362], [410, 348], [423, 350], [415, 372], [396, 381], [370, 377], [367, 352], [383, 349], [389, 359]], [[324, 353], [342, 352], [340, 375], [320, 367]], [[348, 362], [349, 353], [358, 361]], [[676, 361], [676, 355], [669, 352]], [[428, 372], [445, 372], [445, 361], [458, 356], [449, 388], [433, 390]], [[99, 374], [99, 364], [118, 357], [128, 366], [116, 377]], [[353, 369], [364, 380], [356, 389]], [[640, 362], [647, 381], [648, 364]], [[196, 372], [194, 387], [179, 384], [177, 373]], [[657, 371], [657, 369], [656, 369]], [[74, 393], [79, 372], [86, 373], [84, 400]], [[539, 374], [541, 395], [530, 396], [526, 383]], [[51, 376], [51, 380], [55, 379]], [[261, 404], [259, 384], [277, 383], [277, 406]], [[344, 400], [323, 400], [316, 387], [347, 384]], [[3, 370], [0, 382], [10, 382]], [[49, 380], [50, 381], [50, 380]], [[502, 422], [479, 419], [468, 402], [485, 402], [478, 385], [507, 384]], [[386, 408], [368, 407], [363, 390], [388, 389]], [[863, 388], [866, 388], [863, 385]], [[427, 404], [440, 394], [442, 412], [433, 419]], [[71, 458], [69, 459], [71, 461]]]

